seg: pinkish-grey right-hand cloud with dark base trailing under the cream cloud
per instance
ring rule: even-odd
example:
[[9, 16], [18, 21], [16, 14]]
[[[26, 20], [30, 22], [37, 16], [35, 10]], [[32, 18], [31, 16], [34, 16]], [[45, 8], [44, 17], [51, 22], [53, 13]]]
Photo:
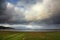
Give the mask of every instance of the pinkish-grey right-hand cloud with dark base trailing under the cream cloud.
[[36, 20], [31, 24], [60, 24], [60, 0], [46, 0], [44, 3], [46, 9], [48, 10], [47, 14], [52, 15], [43, 20]]

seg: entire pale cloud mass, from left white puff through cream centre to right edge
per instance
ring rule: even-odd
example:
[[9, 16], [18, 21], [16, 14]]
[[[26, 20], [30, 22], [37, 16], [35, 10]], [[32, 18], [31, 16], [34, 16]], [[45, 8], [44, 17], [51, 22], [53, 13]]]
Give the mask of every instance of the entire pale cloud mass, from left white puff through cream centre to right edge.
[[[31, 2], [30, 2], [31, 3]], [[36, 3], [30, 4], [25, 3], [25, 1], [19, 1], [15, 6], [11, 3], [8, 3], [7, 7], [12, 11], [12, 21], [35, 21], [35, 20], [44, 20], [53, 16], [53, 13], [56, 13], [60, 9], [60, 4], [58, 1], [52, 0], [43, 0], [39, 2], [36, 0]]]

